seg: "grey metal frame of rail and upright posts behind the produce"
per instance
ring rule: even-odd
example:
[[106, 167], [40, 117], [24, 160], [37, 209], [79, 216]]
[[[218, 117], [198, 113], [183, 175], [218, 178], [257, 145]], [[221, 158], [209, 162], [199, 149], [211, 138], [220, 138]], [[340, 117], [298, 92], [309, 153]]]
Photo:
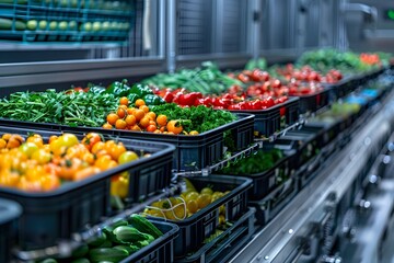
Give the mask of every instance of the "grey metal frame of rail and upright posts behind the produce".
[[[292, 43], [294, 48], [283, 49], [262, 49], [262, 35], [265, 32], [263, 30], [262, 9], [264, 4], [269, 3], [270, 0], [247, 0], [243, 1], [243, 8], [245, 9], [245, 52], [242, 53], [222, 53], [222, 18], [223, 18], [223, 4], [225, 1], [217, 0], [212, 1], [213, 18], [217, 21], [216, 27], [212, 31], [215, 33], [213, 54], [206, 55], [185, 55], [179, 56], [176, 54], [176, 14], [177, 14], [177, 0], [160, 1], [153, 0], [151, 5], [154, 12], [158, 12], [158, 23], [151, 26], [152, 32], [155, 32], [155, 36], [152, 37], [152, 42], [158, 42], [158, 47], [153, 52], [155, 56], [142, 56], [130, 57], [119, 59], [83, 59], [83, 60], [61, 60], [61, 61], [43, 61], [43, 62], [21, 62], [21, 64], [3, 64], [0, 65], [0, 88], [9, 88], [16, 85], [31, 85], [43, 83], [58, 83], [66, 81], [88, 81], [88, 80], [102, 80], [112, 78], [128, 78], [139, 77], [147, 75], [154, 75], [160, 71], [174, 71], [182, 67], [195, 67], [204, 60], [215, 60], [222, 68], [241, 68], [247, 62], [250, 58], [257, 58], [264, 56], [269, 61], [290, 61], [293, 60], [304, 48]], [[338, 12], [339, 7], [344, 0], [335, 0]], [[289, 10], [296, 10], [298, 1], [291, 1]], [[216, 12], [216, 11], [217, 12]], [[153, 12], [152, 11], [152, 12]], [[294, 16], [294, 12], [289, 12], [291, 16]], [[154, 16], [154, 15], [153, 15]], [[343, 20], [340, 15], [335, 18], [336, 32], [338, 35], [344, 36], [344, 31], [339, 27]], [[288, 23], [289, 28], [296, 28], [296, 25], [290, 19]], [[289, 35], [294, 34], [294, 30], [289, 30]], [[292, 35], [293, 36], [293, 35]], [[293, 37], [294, 38], [294, 37]], [[336, 39], [336, 46], [344, 46], [344, 43], [339, 43], [339, 37]], [[10, 45], [12, 46], [12, 45]], [[92, 47], [92, 46], [91, 46]], [[108, 46], [111, 48], [111, 46]], [[0, 47], [1, 48], [1, 47]], [[16, 47], [13, 47], [14, 49]], [[21, 48], [21, 47], [18, 47]], [[27, 49], [40, 49], [40, 47], [27, 47]], [[47, 47], [49, 50], [50, 47]], [[69, 49], [66, 46], [60, 48]], [[88, 46], [81, 46], [81, 48], [88, 48]], [[72, 48], [71, 48], [72, 49]], [[120, 53], [131, 54], [131, 50], [126, 50], [126, 47], [120, 47]], [[24, 50], [22, 48], [21, 50]], [[108, 52], [111, 54], [112, 52]], [[93, 54], [92, 54], [93, 56]]]

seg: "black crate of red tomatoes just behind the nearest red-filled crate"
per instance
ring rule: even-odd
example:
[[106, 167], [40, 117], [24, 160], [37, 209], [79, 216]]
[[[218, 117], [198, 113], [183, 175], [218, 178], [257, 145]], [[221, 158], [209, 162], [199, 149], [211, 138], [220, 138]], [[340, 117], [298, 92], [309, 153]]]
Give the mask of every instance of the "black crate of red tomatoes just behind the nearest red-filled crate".
[[308, 94], [308, 95], [300, 95], [300, 113], [308, 113], [308, 112], [316, 112], [320, 108], [328, 105], [329, 103], [329, 89], [331, 87], [324, 88], [324, 90]]

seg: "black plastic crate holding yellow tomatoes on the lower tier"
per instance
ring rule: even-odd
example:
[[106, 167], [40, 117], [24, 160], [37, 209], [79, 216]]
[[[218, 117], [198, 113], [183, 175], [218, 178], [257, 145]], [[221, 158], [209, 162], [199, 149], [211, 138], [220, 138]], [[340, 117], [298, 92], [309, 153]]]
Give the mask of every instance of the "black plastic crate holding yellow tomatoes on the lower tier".
[[[247, 190], [252, 180], [237, 176], [210, 175], [188, 178], [197, 191], [211, 186], [213, 191], [231, 191], [190, 217], [183, 220], [167, 220], [179, 227], [175, 240], [175, 259], [199, 249], [206, 238], [212, 235], [219, 224], [219, 208], [225, 206], [225, 219], [235, 221], [247, 209]], [[165, 220], [157, 218], [157, 220]]]

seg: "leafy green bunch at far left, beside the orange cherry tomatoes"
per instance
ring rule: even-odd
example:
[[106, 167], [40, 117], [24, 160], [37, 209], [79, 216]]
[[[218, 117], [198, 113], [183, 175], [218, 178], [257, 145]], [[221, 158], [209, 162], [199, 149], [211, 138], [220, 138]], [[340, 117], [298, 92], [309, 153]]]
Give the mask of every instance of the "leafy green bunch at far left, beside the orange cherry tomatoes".
[[115, 111], [114, 94], [92, 92], [15, 92], [0, 99], [0, 117], [69, 126], [101, 127], [108, 112]]

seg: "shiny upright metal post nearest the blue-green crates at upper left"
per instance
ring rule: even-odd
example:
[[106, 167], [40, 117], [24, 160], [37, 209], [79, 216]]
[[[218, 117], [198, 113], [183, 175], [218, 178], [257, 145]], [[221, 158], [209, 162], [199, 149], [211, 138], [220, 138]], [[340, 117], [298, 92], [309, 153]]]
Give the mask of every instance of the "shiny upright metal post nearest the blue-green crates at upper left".
[[176, 69], [176, 0], [166, 1], [166, 70], [174, 72]]

